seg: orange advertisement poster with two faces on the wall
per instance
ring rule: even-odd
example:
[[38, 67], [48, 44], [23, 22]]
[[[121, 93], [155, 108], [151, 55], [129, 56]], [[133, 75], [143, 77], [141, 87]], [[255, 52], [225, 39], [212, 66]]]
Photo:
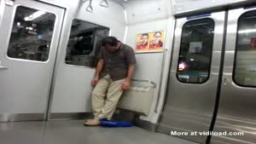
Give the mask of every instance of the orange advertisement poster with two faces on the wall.
[[137, 35], [137, 53], [162, 52], [165, 32], [148, 32]]

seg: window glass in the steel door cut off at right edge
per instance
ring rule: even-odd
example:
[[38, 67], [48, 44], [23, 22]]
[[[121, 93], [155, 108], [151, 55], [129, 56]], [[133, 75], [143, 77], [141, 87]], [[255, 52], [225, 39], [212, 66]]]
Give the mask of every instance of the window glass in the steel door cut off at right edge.
[[256, 11], [238, 20], [233, 79], [242, 86], [256, 86]]

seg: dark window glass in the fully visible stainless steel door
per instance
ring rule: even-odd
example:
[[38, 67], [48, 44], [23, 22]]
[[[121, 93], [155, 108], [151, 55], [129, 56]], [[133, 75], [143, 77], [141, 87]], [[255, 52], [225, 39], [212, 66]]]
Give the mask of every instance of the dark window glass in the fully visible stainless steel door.
[[183, 83], [202, 84], [209, 78], [214, 21], [190, 20], [183, 25], [177, 66], [177, 79]]

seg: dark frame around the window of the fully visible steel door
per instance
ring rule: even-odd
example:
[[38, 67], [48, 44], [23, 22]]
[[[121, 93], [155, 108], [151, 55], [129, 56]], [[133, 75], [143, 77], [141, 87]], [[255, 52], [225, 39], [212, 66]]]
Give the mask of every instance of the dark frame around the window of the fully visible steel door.
[[[213, 49], [214, 49], [214, 38], [215, 38], [215, 20], [213, 20], [211, 17], [203, 17], [201, 19], [195, 19], [195, 20], [187, 20], [183, 26], [185, 26], [188, 22], [190, 21], [196, 21], [196, 20], [203, 20], [203, 19], [208, 19], [208, 20], [211, 20], [213, 23], [213, 30], [214, 30], [214, 33], [213, 33], [213, 37], [212, 37], [212, 53], [213, 53]], [[176, 69], [176, 78], [177, 80], [180, 82], [180, 83], [183, 83], [183, 84], [205, 84], [208, 82], [208, 80], [210, 79], [210, 75], [211, 75], [211, 70], [212, 70], [212, 53], [210, 55], [210, 61], [209, 61], [209, 69], [208, 69], [208, 75], [207, 75], [207, 79], [202, 82], [202, 83], [193, 83], [193, 82], [183, 82], [181, 81], [180, 78], [178, 78], [178, 66], [179, 66], [179, 59], [180, 59], [180, 55], [181, 55], [181, 45], [183, 43], [183, 26], [182, 26], [182, 31], [181, 31], [181, 37], [180, 37], [180, 43], [179, 43], [179, 52], [178, 52], [178, 57], [177, 57], [177, 69]]]

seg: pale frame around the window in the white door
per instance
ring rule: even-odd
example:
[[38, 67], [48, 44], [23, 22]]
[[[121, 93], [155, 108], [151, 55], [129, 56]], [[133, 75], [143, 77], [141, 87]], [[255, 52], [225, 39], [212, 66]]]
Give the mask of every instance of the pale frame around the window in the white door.
[[[47, 60], [28, 60], [28, 59], [20, 59], [20, 58], [14, 58], [14, 57], [10, 57], [8, 55], [8, 52], [9, 52], [9, 44], [11, 42], [11, 37], [12, 37], [12, 30], [13, 30], [13, 27], [14, 27], [14, 24], [15, 24], [15, 16], [16, 16], [16, 13], [17, 13], [17, 9], [19, 7], [25, 7], [25, 8], [28, 8], [28, 9], [36, 9], [36, 10], [40, 10], [40, 11], [44, 11], [46, 13], [49, 13], [49, 14], [54, 14], [55, 16], [55, 22], [54, 22], [54, 25], [53, 25], [53, 33], [52, 33], [52, 37], [51, 37], [51, 40], [50, 40], [50, 45], [49, 45], [49, 53], [48, 53], [48, 58]], [[15, 6], [15, 10], [13, 11], [13, 16], [12, 16], [12, 20], [11, 20], [11, 28], [9, 29], [9, 36], [8, 36], [8, 45], [7, 45], [7, 48], [6, 48], [6, 51], [4, 52], [5, 53], [5, 56], [7, 59], [9, 60], [18, 60], [18, 61], [27, 61], [27, 62], [34, 62], [34, 63], [48, 63], [49, 62], [49, 59], [50, 59], [50, 54], [51, 54], [51, 51], [52, 51], [52, 42], [53, 42], [53, 37], [54, 36], [54, 33], [55, 33], [55, 25], [56, 25], [56, 20], [58, 19], [57, 15], [55, 13], [52, 13], [52, 12], [49, 12], [49, 11], [46, 11], [46, 10], [43, 10], [43, 9], [38, 9], [38, 8], [33, 8], [31, 6], [26, 6], [26, 5], [16, 5]]]

